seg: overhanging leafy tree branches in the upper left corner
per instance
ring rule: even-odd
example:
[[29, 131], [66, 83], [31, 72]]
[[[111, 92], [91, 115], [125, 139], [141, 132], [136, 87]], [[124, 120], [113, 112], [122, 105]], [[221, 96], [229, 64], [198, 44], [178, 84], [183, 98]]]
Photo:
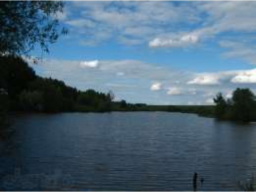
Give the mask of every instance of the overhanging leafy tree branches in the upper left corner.
[[1, 1], [0, 54], [28, 55], [36, 45], [48, 52], [48, 45], [67, 33], [58, 27], [62, 10], [60, 1]]

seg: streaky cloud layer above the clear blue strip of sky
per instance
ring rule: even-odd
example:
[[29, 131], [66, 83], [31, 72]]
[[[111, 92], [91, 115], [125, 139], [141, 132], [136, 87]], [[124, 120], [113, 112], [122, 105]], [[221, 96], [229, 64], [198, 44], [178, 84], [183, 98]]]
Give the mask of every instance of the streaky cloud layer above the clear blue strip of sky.
[[242, 40], [226, 46], [224, 55], [256, 64], [255, 1], [74, 1], [67, 9], [62, 20], [85, 46], [116, 40], [129, 46], [192, 47], [222, 42], [232, 32], [230, 42]]

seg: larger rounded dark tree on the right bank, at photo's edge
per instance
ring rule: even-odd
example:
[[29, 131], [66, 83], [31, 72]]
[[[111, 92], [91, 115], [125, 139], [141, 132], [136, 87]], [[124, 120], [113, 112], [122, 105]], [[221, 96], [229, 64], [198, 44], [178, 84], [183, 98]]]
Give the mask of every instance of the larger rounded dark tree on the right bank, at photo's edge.
[[234, 119], [249, 122], [254, 116], [255, 96], [248, 88], [237, 88], [232, 95]]

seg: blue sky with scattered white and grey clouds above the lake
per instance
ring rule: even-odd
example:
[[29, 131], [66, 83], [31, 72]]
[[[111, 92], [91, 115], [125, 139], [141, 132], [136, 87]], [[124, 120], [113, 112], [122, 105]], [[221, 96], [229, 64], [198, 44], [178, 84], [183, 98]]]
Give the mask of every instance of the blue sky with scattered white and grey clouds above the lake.
[[212, 104], [237, 87], [256, 93], [254, 1], [65, 1], [69, 33], [35, 50], [37, 74], [115, 100]]

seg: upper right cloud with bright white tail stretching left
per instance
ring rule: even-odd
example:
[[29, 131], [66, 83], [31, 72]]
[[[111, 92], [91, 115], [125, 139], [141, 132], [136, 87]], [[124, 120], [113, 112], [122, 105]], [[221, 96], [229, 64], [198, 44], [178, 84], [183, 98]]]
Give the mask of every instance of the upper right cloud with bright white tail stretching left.
[[[158, 32], [148, 41], [148, 45], [175, 48], [190, 46], [198, 43], [199, 40], [200, 42], [214, 40], [220, 42], [221, 47], [227, 48], [224, 51], [225, 56], [242, 58], [250, 64], [256, 64], [255, 1], [222, 1], [221, 3], [198, 1], [192, 2], [190, 6], [195, 18], [199, 17], [201, 21], [196, 27], [188, 27], [188, 29], [186, 26], [176, 27], [178, 30], [172, 30], [170, 38], [162, 37], [166, 36], [168, 30]], [[229, 32], [232, 34], [228, 34]], [[226, 34], [230, 43], [227, 43]]]

